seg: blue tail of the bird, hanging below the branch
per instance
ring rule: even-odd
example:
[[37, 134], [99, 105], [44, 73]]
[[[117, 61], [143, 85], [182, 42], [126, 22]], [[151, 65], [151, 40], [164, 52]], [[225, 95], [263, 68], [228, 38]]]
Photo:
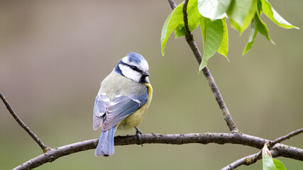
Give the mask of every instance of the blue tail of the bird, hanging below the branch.
[[114, 154], [115, 130], [116, 130], [116, 126], [106, 131], [102, 129], [96, 152], [94, 152], [94, 155], [96, 157], [100, 155], [104, 155], [104, 157], [108, 157], [109, 155]]

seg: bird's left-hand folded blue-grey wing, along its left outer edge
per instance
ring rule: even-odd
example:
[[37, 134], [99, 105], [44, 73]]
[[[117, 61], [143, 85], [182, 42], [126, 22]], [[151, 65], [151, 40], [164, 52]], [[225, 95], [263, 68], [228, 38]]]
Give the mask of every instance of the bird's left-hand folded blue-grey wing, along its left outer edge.
[[109, 96], [106, 94], [101, 94], [96, 97], [96, 101], [94, 102], [94, 120], [93, 120], [93, 128], [97, 130], [101, 127], [103, 120], [105, 118], [106, 109], [110, 105]]

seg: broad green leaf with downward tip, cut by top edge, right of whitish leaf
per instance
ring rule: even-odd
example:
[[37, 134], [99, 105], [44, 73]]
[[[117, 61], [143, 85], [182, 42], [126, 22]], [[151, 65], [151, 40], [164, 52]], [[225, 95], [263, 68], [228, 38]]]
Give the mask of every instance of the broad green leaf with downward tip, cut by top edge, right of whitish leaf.
[[227, 10], [231, 26], [242, 33], [255, 16], [257, 0], [233, 0]]

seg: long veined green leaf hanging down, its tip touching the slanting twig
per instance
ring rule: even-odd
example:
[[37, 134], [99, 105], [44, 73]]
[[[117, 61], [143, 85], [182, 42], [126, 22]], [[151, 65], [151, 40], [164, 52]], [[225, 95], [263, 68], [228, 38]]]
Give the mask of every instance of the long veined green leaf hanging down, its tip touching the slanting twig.
[[221, 20], [211, 21], [209, 18], [200, 18], [201, 33], [203, 36], [203, 58], [199, 66], [201, 71], [209, 62], [209, 59], [214, 56], [221, 45], [224, 28]]

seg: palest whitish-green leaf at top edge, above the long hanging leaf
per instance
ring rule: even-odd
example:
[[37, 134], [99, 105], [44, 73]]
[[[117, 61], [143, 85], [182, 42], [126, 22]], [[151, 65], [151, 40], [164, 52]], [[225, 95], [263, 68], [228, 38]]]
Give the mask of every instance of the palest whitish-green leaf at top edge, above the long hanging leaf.
[[221, 13], [220, 16], [216, 16], [216, 9], [218, 8], [218, 5], [218, 0], [198, 0], [199, 13], [206, 18], [210, 18], [211, 21], [222, 19], [226, 16], [225, 12]]

